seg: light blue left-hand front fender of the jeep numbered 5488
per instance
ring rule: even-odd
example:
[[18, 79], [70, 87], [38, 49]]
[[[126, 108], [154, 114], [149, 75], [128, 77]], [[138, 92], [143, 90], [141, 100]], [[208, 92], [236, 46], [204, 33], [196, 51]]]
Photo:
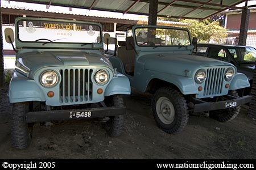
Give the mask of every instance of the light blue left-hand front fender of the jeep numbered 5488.
[[46, 101], [46, 98], [34, 80], [15, 71], [9, 84], [9, 101], [10, 103]]

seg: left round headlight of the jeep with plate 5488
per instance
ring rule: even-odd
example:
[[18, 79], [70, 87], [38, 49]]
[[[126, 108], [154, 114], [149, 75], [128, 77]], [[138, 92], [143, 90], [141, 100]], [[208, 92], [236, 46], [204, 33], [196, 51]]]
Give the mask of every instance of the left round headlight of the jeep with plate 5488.
[[40, 81], [44, 87], [53, 87], [58, 82], [58, 75], [54, 71], [46, 71], [41, 75]]

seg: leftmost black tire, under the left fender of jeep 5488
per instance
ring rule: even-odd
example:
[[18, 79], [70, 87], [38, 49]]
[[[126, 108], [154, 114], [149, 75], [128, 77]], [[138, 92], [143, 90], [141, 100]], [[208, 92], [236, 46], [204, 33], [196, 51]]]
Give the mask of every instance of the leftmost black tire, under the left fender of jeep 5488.
[[29, 111], [30, 104], [14, 103], [11, 113], [11, 143], [13, 147], [22, 150], [31, 143], [33, 124], [25, 122], [26, 113]]

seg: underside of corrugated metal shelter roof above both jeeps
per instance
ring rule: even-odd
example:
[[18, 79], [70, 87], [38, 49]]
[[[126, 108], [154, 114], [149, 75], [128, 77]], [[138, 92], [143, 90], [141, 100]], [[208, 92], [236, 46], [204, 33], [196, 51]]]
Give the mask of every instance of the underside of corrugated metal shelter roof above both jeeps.
[[[11, 0], [10, 0], [11, 1]], [[16, 1], [16, 0], [14, 0]], [[18, 0], [17, 0], [18, 1]], [[236, 7], [246, 0], [158, 0], [158, 16], [172, 18], [205, 19], [228, 8]], [[123, 14], [148, 15], [146, 0], [19, 0], [19, 2], [40, 3], [92, 10], [121, 12]]]

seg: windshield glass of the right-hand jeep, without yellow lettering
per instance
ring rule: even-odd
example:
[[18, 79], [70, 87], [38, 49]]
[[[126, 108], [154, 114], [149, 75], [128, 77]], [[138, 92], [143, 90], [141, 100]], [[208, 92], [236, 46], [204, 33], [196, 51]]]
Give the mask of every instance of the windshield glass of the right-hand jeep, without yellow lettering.
[[136, 42], [139, 46], [191, 45], [188, 31], [167, 28], [137, 28]]

